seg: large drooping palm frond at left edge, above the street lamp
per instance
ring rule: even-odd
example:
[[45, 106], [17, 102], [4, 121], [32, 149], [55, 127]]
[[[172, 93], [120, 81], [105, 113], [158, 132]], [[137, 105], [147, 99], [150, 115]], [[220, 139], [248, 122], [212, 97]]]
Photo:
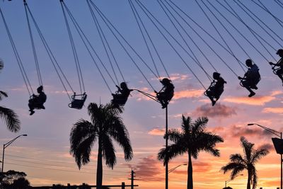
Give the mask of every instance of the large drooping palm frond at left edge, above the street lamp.
[[21, 129], [21, 122], [13, 110], [0, 106], [0, 118], [6, 122], [8, 130], [11, 132], [18, 132]]

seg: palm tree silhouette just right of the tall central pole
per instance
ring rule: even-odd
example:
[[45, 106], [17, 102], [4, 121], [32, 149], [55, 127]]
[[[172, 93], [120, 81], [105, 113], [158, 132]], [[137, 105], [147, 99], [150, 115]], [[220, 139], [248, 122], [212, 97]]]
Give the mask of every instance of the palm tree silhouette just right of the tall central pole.
[[206, 117], [197, 118], [195, 122], [192, 122], [190, 117], [185, 118], [182, 115], [182, 121], [181, 131], [168, 130], [168, 139], [173, 144], [168, 146], [168, 156], [166, 156], [166, 148], [163, 148], [158, 153], [158, 159], [163, 160], [166, 164], [166, 161], [187, 153], [187, 189], [192, 189], [192, 157], [197, 159], [200, 151], [207, 151], [214, 156], [219, 156], [219, 150], [214, 147], [216, 143], [223, 142], [223, 139], [205, 130], [208, 122]]

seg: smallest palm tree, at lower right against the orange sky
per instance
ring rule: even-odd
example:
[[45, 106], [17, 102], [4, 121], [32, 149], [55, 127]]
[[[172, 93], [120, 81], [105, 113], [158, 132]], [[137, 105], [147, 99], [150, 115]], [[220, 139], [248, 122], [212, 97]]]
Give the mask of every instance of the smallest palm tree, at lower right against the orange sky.
[[255, 169], [255, 163], [263, 156], [266, 156], [269, 151], [267, 149], [254, 149], [255, 144], [248, 142], [245, 137], [241, 137], [241, 146], [243, 147], [244, 156], [241, 154], [231, 154], [230, 162], [226, 166], [221, 167], [221, 171], [226, 173], [231, 172], [231, 180], [243, 170], [248, 171], [247, 189], [250, 189], [250, 183], [253, 183], [253, 189], [258, 184], [258, 175]]

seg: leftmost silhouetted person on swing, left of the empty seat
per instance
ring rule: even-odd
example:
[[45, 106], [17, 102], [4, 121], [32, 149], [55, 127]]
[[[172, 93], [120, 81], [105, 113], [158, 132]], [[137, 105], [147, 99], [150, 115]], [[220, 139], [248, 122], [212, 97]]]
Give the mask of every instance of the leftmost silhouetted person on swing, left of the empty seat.
[[37, 88], [37, 93], [39, 95], [33, 94], [32, 98], [28, 101], [28, 107], [30, 108], [30, 115], [35, 113], [34, 109], [45, 109], [43, 103], [46, 101], [46, 95], [43, 92], [43, 86]]

